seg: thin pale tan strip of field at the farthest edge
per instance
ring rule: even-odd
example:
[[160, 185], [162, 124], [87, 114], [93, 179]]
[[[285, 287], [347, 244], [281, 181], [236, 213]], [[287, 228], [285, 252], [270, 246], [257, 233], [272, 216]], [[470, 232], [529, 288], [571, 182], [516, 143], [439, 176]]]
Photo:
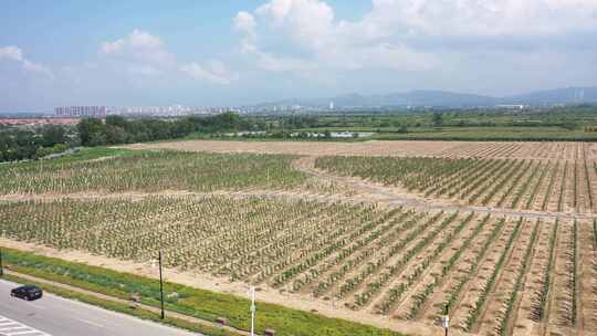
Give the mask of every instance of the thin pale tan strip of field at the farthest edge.
[[171, 141], [136, 144], [132, 149], [176, 149], [212, 153], [260, 153], [300, 156], [408, 156], [574, 159], [597, 160], [595, 143], [507, 143], [507, 141]]

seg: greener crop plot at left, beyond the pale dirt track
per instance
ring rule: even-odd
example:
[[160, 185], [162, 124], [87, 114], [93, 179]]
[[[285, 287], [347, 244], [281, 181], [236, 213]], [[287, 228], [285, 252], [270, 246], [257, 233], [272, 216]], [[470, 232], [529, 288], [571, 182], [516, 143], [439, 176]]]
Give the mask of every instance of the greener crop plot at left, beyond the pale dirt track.
[[140, 153], [92, 160], [0, 166], [2, 193], [238, 190], [291, 188], [305, 176], [292, 156]]

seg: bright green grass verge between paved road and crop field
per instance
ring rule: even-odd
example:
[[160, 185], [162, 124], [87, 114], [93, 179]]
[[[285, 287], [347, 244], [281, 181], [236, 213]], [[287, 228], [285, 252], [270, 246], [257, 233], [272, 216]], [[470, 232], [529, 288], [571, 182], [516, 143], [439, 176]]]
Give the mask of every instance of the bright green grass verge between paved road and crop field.
[[[159, 306], [159, 282], [156, 280], [12, 249], [3, 249], [2, 251], [4, 262], [15, 272], [124, 300], [128, 300], [132, 294], [138, 293], [143, 304]], [[43, 287], [48, 288], [45, 285]], [[165, 298], [166, 309], [168, 311], [210, 322], [216, 322], [218, 317], [224, 317], [228, 319], [230, 326], [237, 329], [248, 330], [250, 328], [250, 302], [248, 300], [168, 282], [165, 283]], [[103, 306], [102, 304], [100, 305]], [[128, 307], [124, 311], [122, 308], [123, 306], [115, 306], [114, 309], [118, 312], [132, 311]], [[159, 317], [156, 316], [156, 318]], [[291, 309], [280, 305], [258, 303], [256, 330], [261, 334], [265, 328], [276, 330], [277, 335], [295, 336], [401, 335], [388, 329], [379, 329], [344, 319], [324, 317], [318, 314]], [[209, 332], [206, 332], [206, 334], [224, 335], [210, 334]]]

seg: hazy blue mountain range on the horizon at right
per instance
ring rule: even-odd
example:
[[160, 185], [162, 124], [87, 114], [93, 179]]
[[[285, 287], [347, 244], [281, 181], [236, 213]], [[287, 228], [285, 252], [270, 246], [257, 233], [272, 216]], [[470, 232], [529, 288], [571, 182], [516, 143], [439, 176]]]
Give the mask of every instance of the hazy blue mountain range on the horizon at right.
[[312, 106], [328, 108], [333, 102], [334, 108], [357, 107], [475, 107], [498, 105], [578, 105], [597, 104], [597, 86], [594, 87], [566, 87], [547, 91], [536, 91], [522, 95], [494, 97], [447, 91], [416, 90], [402, 93], [380, 95], [346, 94], [335, 97], [322, 98], [292, 98], [271, 103], [259, 104], [259, 107], [268, 106]]

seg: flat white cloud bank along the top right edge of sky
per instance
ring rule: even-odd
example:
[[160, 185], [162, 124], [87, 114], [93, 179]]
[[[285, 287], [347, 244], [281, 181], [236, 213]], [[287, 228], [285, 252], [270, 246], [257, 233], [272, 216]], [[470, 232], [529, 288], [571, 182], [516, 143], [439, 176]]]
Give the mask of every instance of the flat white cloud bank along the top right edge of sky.
[[544, 35], [597, 28], [595, 0], [373, 0], [378, 33]]

